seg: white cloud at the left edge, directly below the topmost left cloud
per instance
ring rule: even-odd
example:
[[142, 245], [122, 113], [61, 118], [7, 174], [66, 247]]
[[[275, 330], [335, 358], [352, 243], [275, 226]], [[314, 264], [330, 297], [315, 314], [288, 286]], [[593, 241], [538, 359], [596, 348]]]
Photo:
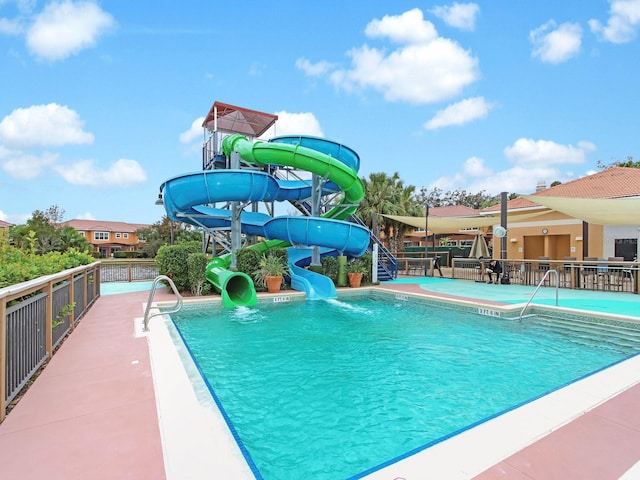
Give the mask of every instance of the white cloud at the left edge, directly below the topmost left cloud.
[[62, 146], [93, 143], [78, 114], [55, 103], [18, 108], [0, 122], [0, 140], [8, 146]]

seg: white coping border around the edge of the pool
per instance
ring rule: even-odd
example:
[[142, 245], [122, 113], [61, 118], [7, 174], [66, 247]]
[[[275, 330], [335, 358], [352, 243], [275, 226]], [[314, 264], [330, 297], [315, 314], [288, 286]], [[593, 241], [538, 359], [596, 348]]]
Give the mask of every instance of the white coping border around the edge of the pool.
[[[399, 292], [395, 289], [385, 288], [384, 286], [364, 287], [360, 289], [339, 289], [339, 294], [345, 296], [366, 295], [371, 291], [382, 291], [386, 294], [401, 294], [412, 298], [426, 298], [437, 302], [448, 304], [456, 304], [465, 307], [478, 308], [482, 305], [487, 308], [496, 309], [502, 312], [514, 313], [522, 309], [522, 304], [504, 304], [492, 301], [483, 301], [478, 299], [469, 299], [465, 297], [456, 297], [446, 294], [433, 292]], [[259, 302], [278, 302], [278, 298], [294, 297], [296, 300], [304, 300], [304, 293], [299, 292], [280, 292], [278, 294], [262, 294], [259, 295]], [[284, 301], [284, 300], [280, 300]], [[287, 300], [289, 301], [289, 300]], [[185, 304], [202, 304], [214, 303], [220, 304], [220, 300], [216, 297], [204, 297], [198, 299], [185, 299]], [[166, 305], [173, 305], [171, 302], [154, 302], [154, 308]], [[564, 307], [554, 307], [548, 305], [534, 305], [535, 308], [543, 310], [560, 310], [569, 313], [590, 314], [594, 316], [602, 316], [603, 318], [612, 318], [614, 320], [622, 320], [625, 322], [639, 321], [637, 318], [626, 317], [622, 315], [606, 314], [600, 312], [576, 310]], [[142, 322], [142, 319], [136, 319]], [[170, 350], [170, 345], [166, 344], [167, 339], [176, 350], [173, 356], [174, 361], [178, 364], [172, 365], [169, 369], [156, 368], [157, 363], [153, 355], [154, 335], [146, 332], [149, 351], [152, 357], [152, 376], [154, 385], [156, 386], [156, 404], [158, 405], [158, 421], [161, 430], [163, 451], [165, 452], [165, 470], [167, 479], [185, 478], [185, 469], [191, 472], [188, 478], [208, 478], [206, 472], [216, 471], [224, 474], [231, 474], [238, 480], [253, 479], [256, 476], [247, 464], [240, 448], [238, 447], [229, 427], [224, 421], [223, 415], [218, 410], [215, 402], [211, 400], [207, 386], [200, 377], [196, 365], [193, 363], [188, 352], [180, 353], [172, 339], [170, 328], [172, 320], [167, 315], [154, 317], [152, 320], [151, 330], [164, 330], [164, 336], [161, 340], [162, 349]], [[139, 328], [136, 327], [138, 330]], [[177, 332], [176, 332], [177, 334]], [[156, 345], [157, 342], [156, 342]], [[186, 347], [185, 347], [186, 348]], [[166, 361], [164, 359], [163, 361]], [[163, 361], [158, 360], [159, 363]], [[631, 365], [629, 367], [629, 365]], [[175, 375], [173, 380], [167, 380], [163, 377], [167, 371], [171, 371], [171, 375]], [[372, 467], [366, 473], [363, 472], [354, 478], [365, 478], [368, 480], [388, 480], [389, 478], [422, 478], [425, 474], [429, 477], [446, 478], [451, 480], [468, 479], [479, 475], [483, 471], [499, 463], [510, 455], [531, 445], [535, 441], [549, 435], [562, 426], [570, 423], [584, 413], [596, 408], [607, 400], [613, 398], [621, 392], [640, 383], [640, 377], [637, 372], [640, 370], [640, 355], [636, 355], [630, 359], [619, 362], [616, 365], [608, 367], [602, 371], [591, 374], [565, 387], [559, 388], [543, 397], [533, 400], [529, 403], [521, 405], [517, 408], [499, 414], [489, 420], [480, 422], [471, 428], [458, 433], [446, 440], [435, 443], [424, 450], [408, 455], [405, 458], [393, 459], [393, 463], [389, 465], [381, 464]], [[610, 379], [615, 374], [616, 381]], [[605, 378], [606, 377], [606, 378]], [[166, 385], [168, 382], [172, 386], [170, 390], [175, 395], [179, 390], [175, 388], [176, 382], [186, 385], [185, 379], [190, 383], [192, 388], [187, 388], [188, 392], [182, 392], [186, 395], [179, 408], [184, 412], [184, 405], [191, 405], [194, 412], [189, 415], [190, 418], [185, 419], [184, 416], [175, 418], [176, 413], [172, 411], [173, 401], [162, 398], [163, 392], [166, 395]], [[195, 380], [195, 385], [194, 385]], [[197, 386], [201, 384], [200, 386]], [[194, 390], [195, 388], [195, 390]], [[201, 391], [204, 388], [206, 393]], [[197, 391], [196, 391], [197, 390]], [[207, 399], [207, 396], [209, 397]], [[579, 407], [576, 407], [579, 404]], [[541, 421], [544, 419], [544, 422]], [[189, 423], [185, 423], [188, 420]], [[223, 422], [224, 428], [221, 428], [220, 422]], [[167, 425], [168, 422], [168, 425]], [[177, 426], [179, 425], [179, 426]], [[188, 427], [187, 425], [191, 425]], [[520, 429], [514, 433], [514, 425], [520, 426]], [[207, 428], [205, 428], [207, 427]], [[180, 431], [182, 433], [180, 433]], [[200, 441], [193, 444], [193, 432], [199, 432]], [[206, 431], [203, 434], [203, 431]], [[215, 432], [214, 435], [211, 435]], [[492, 442], [487, 442], [486, 438], [491, 438]], [[499, 439], [496, 441], [495, 439]], [[204, 440], [204, 441], [203, 441]], [[229, 445], [229, 442], [232, 445]], [[220, 451], [220, 445], [225, 444], [227, 454], [221, 455], [222, 458], [215, 458], [211, 452]], [[192, 449], [189, 453], [185, 452], [185, 445], [191, 444]], [[229, 448], [230, 447], [230, 448]], [[487, 448], [491, 447], [491, 448]], [[194, 455], [194, 452], [201, 453]], [[461, 455], [464, 452], [464, 455]], [[182, 458], [186, 455], [187, 459]], [[203, 463], [194, 461], [194, 457]], [[204, 459], [204, 460], [203, 460]], [[215, 469], [215, 470], [212, 470]], [[205, 472], [205, 473], [203, 473]], [[174, 476], [175, 475], [175, 476]]]

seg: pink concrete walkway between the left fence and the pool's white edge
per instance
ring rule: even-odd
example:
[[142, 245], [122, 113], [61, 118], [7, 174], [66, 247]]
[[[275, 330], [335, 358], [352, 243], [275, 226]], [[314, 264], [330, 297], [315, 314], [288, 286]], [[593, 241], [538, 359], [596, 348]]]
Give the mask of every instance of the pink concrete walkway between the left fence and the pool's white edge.
[[134, 337], [148, 295], [102, 296], [81, 319], [0, 424], [1, 478], [165, 478], [147, 339]]

